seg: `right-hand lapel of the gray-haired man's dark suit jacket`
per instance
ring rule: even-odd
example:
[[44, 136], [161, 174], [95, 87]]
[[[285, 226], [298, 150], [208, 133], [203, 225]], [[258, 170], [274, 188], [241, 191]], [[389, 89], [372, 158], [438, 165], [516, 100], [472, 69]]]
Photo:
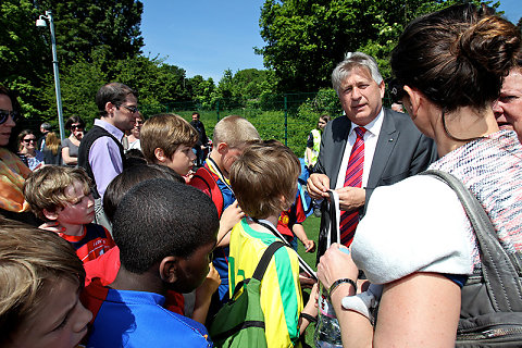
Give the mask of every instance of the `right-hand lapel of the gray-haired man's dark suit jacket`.
[[391, 151], [397, 144], [399, 134], [400, 132], [395, 127], [395, 121], [389, 111], [384, 109], [383, 125], [381, 127], [377, 146], [375, 147], [375, 153], [373, 156], [372, 167], [370, 169], [370, 175], [368, 177], [368, 187], [376, 187], [378, 184]]

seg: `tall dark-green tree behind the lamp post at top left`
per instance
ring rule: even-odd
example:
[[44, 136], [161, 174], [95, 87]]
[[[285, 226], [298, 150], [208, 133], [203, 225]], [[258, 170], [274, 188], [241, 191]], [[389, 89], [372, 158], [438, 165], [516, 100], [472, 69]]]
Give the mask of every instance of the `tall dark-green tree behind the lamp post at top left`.
[[89, 84], [114, 78], [115, 62], [135, 59], [144, 45], [139, 0], [0, 1], [0, 84], [20, 92], [25, 116], [34, 122], [57, 115], [50, 32], [35, 26], [47, 10], [54, 18], [67, 112], [84, 111], [78, 98], [94, 98]]

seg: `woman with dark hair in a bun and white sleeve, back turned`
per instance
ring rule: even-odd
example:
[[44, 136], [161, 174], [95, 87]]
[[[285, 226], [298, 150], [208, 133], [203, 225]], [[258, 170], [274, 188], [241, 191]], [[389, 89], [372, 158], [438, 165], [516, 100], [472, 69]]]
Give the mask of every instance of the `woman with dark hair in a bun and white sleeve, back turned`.
[[[492, 102], [521, 37], [484, 12], [465, 4], [417, 18], [400, 36], [391, 69], [406, 111], [436, 141], [440, 159], [430, 169], [470, 189], [500, 245], [520, 260], [522, 147], [514, 132], [499, 130]], [[461, 287], [480, 272], [482, 252], [448, 185], [417, 175], [376, 188], [351, 253], [339, 249], [325, 253], [318, 275], [330, 289], [344, 347], [455, 347]], [[371, 294], [353, 296], [359, 269]]]

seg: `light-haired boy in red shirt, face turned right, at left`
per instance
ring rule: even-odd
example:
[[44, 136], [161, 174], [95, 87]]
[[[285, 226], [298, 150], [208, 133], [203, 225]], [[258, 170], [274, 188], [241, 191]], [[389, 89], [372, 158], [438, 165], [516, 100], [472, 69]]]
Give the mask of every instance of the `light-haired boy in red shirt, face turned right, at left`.
[[44, 166], [27, 177], [24, 196], [33, 212], [49, 221], [40, 228], [57, 232], [71, 243], [83, 262], [114, 247], [109, 232], [91, 223], [95, 200], [90, 195], [90, 179], [83, 169]]

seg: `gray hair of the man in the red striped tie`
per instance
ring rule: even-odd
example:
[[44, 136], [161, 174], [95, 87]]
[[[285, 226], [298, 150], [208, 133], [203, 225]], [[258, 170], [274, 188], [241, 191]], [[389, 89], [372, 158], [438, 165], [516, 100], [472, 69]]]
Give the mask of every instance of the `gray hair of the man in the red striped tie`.
[[345, 59], [335, 66], [334, 72], [332, 73], [332, 85], [339, 95], [340, 85], [343, 80], [350, 75], [351, 71], [357, 66], [364, 66], [372, 74], [373, 80], [377, 85], [381, 85], [383, 82], [383, 76], [378, 72], [377, 62], [372, 57], [362, 52], [348, 52], [345, 55]]

